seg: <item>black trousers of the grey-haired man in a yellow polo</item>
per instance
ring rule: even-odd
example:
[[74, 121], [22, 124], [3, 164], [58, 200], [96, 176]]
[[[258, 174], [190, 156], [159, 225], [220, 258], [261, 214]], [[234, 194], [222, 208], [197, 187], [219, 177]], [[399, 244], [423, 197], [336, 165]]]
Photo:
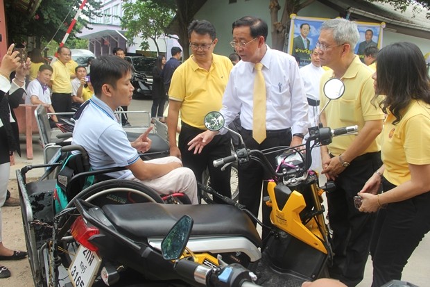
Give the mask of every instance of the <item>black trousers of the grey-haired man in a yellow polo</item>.
[[355, 208], [354, 196], [381, 165], [380, 152], [357, 157], [339, 174], [335, 181], [336, 190], [327, 193], [334, 251], [334, 262], [329, 272], [332, 278], [349, 287], [356, 286], [363, 279], [375, 223], [374, 213], [361, 213]]

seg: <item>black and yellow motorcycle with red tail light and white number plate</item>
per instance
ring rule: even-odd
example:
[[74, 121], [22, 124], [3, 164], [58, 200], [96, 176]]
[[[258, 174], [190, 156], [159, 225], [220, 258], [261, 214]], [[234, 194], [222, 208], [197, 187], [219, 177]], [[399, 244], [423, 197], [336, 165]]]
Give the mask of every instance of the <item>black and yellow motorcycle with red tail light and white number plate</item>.
[[[336, 97], [341, 94], [341, 87], [331, 89], [336, 90]], [[221, 114], [207, 115], [205, 123], [208, 129], [223, 128]], [[311, 141], [313, 146], [327, 145], [333, 136], [355, 131], [355, 127], [333, 131], [313, 127], [309, 129], [306, 154], [310, 155]], [[325, 269], [332, 251], [322, 215], [318, 174], [309, 170], [311, 159], [305, 159], [295, 147], [266, 152], [279, 154], [277, 171], [262, 151], [246, 147], [214, 163], [244, 164], [256, 160], [273, 175], [268, 188], [268, 204], [273, 208], [272, 236], [263, 253], [249, 212], [231, 199], [225, 199], [231, 206], [166, 205], [155, 197], [151, 197], [152, 202], [101, 204], [96, 199], [106, 191], [97, 183], [78, 193], [64, 211], [55, 215], [51, 240], [37, 250], [46, 263], [46, 282], [64, 286], [61, 284], [71, 281], [74, 286], [88, 287], [102, 281], [109, 286], [151, 281], [162, 286], [166, 282], [181, 286], [181, 274], [159, 255], [162, 239], [184, 214], [195, 222], [188, 246], [193, 250], [193, 259], [200, 264], [216, 267], [221, 254], [226, 263], [239, 263], [255, 270], [261, 284], [268, 286], [300, 286], [302, 281], [327, 275]], [[115, 185], [113, 181], [110, 184]], [[216, 195], [210, 188], [206, 191]]]

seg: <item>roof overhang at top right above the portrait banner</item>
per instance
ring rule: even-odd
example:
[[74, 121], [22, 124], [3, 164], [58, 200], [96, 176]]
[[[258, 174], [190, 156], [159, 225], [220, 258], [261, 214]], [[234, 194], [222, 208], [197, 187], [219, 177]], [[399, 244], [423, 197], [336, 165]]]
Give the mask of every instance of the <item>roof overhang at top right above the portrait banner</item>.
[[352, 0], [319, 0], [321, 3], [338, 10], [344, 17], [361, 22], [385, 22], [386, 29], [430, 40], [430, 21], [426, 18], [427, 10], [414, 12], [408, 8], [404, 13], [396, 11], [386, 3], [370, 3]]

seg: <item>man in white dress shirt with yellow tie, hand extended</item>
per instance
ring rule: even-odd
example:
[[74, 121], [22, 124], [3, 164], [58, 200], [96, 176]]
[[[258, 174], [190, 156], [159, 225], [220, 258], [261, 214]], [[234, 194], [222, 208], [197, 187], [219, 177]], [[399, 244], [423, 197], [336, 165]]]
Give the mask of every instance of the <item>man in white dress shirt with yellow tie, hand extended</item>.
[[[230, 43], [241, 57], [230, 73], [220, 112], [228, 126], [240, 113], [241, 136], [249, 149], [268, 149], [301, 145], [309, 127], [308, 104], [295, 58], [266, 44], [268, 27], [256, 17], [246, 16], [233, 23]], [[266, 138], [257, 142], [252, 138], [255, 64], [263, 65], [261, 72], [266, 85]], [[200, 152], [218, 132], [205, 131], [189, 142], [190, 149]], [[274, 161], [274, 158], [268, 158]], [[263, 196], [267, 193], [268, 177], [256, 161], [239, 165], [239, 202], [258, 215]], [[264, 184], [263, 184], [264, 181]], [[270, 224], [270, 208], [262, 204], [263, 221]], [[263, 238], [268, 231], [263, 229]]]

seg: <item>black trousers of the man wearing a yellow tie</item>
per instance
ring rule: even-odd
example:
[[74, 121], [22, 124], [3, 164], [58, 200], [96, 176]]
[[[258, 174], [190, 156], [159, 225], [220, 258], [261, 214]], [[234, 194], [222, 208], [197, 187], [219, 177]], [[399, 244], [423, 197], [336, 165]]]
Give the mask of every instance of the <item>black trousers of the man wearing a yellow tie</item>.
[[[252, 138], [252, 131], [242, 128], [240, 133], [248, 149], [262, 150], [270, 147], [289, 146], [292, 138], [291, 129], [266, 131], [266, 139], [258, 144]], [[274, 167], [275, 156], [276, 154], [268, 156], [268, 160], [273, 163]], [[263, 197], [268, 196], [268, 181], [264, 181], [267, 179], [270, 179], [269, 174], [264, 173], [263, 167], [257, 161], [250, 161], [247, 165], [239, 165], [239, 203], [245, 205], [257, 217], [261, 203], [261, 188]], [[263, 223], [270, 226], [270, 208], [266, 204], [262, 204], [261, 212]], [[262, 238], [264, 239], [268, 236], [268, 229], [263, 228], [262, 231]]]

